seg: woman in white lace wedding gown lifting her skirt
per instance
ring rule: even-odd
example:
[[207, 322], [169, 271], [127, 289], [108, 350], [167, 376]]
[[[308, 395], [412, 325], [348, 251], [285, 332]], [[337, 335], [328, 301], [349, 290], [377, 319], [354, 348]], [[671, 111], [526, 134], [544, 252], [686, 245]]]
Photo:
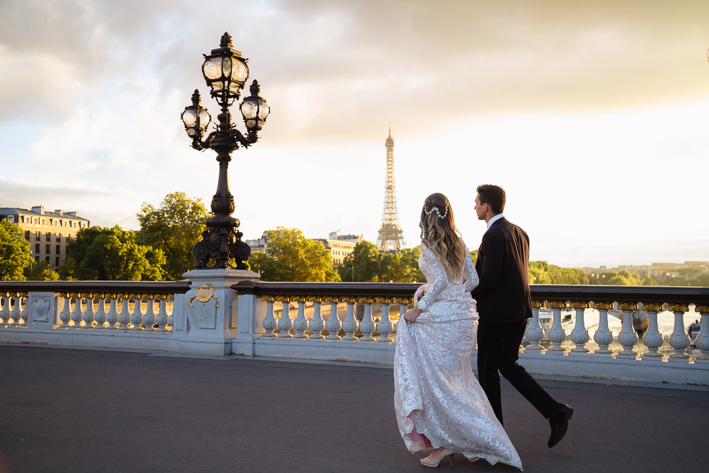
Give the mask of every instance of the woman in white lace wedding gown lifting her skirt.
[[394, 408], [401, 437], [412, 453], [432, 450], [420, 460], [427, 467], [457, 452], [471, 462], [521, 469], [471, 369], [478, 314], [470, 291], [478, 275], [446, 196], [426, 198], [419, 226], [418, 265], [430, 287], [397, 328]]

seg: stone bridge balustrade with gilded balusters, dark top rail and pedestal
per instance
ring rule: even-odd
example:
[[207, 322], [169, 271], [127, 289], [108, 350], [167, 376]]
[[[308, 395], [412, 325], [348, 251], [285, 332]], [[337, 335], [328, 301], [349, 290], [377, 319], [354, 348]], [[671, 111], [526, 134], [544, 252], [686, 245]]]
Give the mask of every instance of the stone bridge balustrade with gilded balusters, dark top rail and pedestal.
[[[419, 285], [261, 282], [223, 270], [185, 277], [0, 282], [0, 341], [391, 364], [397, 313]], [[528, 370], [709, 384], [709, 288], [535, 284], [530, 291], [533, 317], [520, 347]], [[687, 313], [702, 322], [694, 350], [687, 350]], [[609, 315], [623, 321], [620, 330], [618, 319], [609, 328]]]

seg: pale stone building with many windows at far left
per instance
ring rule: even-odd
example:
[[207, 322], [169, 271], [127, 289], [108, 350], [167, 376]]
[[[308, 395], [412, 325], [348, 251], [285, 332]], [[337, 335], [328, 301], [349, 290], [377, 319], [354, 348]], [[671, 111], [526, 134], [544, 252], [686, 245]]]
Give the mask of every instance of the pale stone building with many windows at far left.
[[91, 222], [77, 216], [76, 212], [45, 211], [44, 206], [26, 208], [0, 206], [0, 219], [14, 223], [30, 243], [36, 262], [46, 261], [57, 269], [67, 258], [67, 243]]

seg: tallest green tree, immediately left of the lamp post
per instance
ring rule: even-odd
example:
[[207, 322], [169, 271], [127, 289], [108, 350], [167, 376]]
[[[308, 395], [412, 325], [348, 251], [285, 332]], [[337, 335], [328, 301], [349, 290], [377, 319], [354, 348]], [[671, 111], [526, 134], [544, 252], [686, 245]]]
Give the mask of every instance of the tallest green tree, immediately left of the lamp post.
[[138, 243], [162, 250], [166, 279], [182, 279], [182, 274], [194, 268], [192, 248], [209, 215], [201, 199], [190, 199], [184, 192], [167, 194], [158, 208], [143, 202], [137, 215]]

